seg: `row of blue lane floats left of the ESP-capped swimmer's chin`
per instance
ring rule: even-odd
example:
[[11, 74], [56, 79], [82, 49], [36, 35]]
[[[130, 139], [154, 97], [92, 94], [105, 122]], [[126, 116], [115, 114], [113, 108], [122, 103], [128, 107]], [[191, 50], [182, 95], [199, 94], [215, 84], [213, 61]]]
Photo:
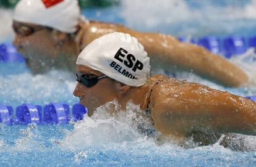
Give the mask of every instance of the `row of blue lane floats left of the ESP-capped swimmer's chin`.
[[88, 112], [82, 104], [72, 106], [72, 112], [67, 104], [51, 103], [41, 107], [34, 104], [22, 104], [14, 110], [11, 106], [0, 105], [0, 123], [4, 124], [60, 124], [83, 120], [83, 115]]

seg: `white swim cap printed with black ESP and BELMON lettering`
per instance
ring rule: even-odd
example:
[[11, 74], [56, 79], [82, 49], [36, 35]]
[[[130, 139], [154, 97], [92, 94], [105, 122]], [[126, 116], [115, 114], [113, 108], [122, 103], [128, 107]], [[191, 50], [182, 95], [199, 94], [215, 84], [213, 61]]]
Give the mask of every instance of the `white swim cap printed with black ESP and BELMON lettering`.
[[86, 65], [129, 86], [147, 82], [149, 62], [147, 52], [136, 38], [117, 32], [95, 39], [77, 58], [77, 65]]

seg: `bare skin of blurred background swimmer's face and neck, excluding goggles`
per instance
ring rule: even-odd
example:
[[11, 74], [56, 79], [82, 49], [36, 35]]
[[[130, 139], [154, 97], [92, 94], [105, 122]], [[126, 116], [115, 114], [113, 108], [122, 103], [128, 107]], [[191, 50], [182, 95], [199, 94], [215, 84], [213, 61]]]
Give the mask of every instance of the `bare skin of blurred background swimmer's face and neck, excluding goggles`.
[[[30, 23], [14, 22], [17, 29], [25, 25], [29, 28], [38, 28], [38, 25]], [[29, 35], [16, 33], [14, 45], [27, 59], [28, 68], [33, 73], [44, 73], [56, 69], [75, 71], [76, 60], [75, 44], [66, 40], [66, 33], [49, 28], [40, 28]]]

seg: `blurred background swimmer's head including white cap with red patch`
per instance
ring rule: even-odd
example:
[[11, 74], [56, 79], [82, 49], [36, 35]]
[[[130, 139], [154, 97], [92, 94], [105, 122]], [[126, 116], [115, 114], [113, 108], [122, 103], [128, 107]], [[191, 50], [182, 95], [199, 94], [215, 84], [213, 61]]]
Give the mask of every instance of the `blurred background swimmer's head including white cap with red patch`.
[[77, 54], [74, 42], [80, 22], [77, 0], [20, 0], [13, 20], [14, 45], [28, 58], [28, 67], [34, 73], [48, 71], [48, 67], [58, 68], [59, 55], [59, 59], [74, 59], [66, 62], [75, 61], [70, 55]]

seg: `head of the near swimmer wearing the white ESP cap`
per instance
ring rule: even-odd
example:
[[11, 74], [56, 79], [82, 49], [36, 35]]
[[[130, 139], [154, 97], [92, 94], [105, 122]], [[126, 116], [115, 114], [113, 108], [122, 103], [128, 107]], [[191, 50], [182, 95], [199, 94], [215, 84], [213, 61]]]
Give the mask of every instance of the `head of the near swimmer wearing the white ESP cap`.
[[147, 91], [142, 85], [150, 73], [149, 61], [147, 52], [136, 38], [116, 32], [101, 36], [79, 54], [77, 71], [108, 77], [90, 88], [77, 83], [74, 96], [80, 97], [80, 103], [87, 106], [88, 115], [92, 115], [96, 107], [114, 99], [122, 106], [129, 99], [140, 104]]

